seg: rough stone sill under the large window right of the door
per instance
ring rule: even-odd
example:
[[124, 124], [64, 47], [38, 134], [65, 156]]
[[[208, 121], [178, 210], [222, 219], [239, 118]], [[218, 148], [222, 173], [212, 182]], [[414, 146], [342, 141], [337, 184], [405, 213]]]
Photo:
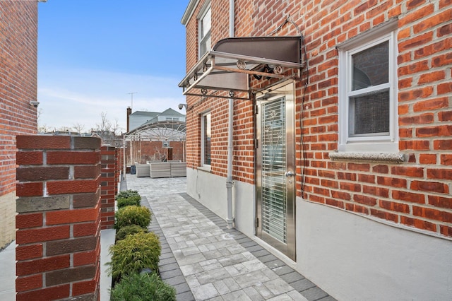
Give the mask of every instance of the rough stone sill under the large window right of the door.
[[403, 163], [403, 153], [357, 153], [357, 152], [332, 152], [328, 153], [331, 160], [354, 160], [377, 163]]

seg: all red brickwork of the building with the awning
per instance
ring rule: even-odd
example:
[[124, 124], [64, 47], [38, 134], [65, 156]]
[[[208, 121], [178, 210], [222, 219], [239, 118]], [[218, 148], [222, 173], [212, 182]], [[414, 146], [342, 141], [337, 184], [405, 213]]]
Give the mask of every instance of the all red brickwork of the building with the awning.
[[[198, 60], [196, 16], [202, 2], [186, 25], [187, 70]], [[212, 45], [228, 36], [228, 2], [211, 3]], [[234, 14], [238, 37], [266, 36], [287, 17], [291, 22], [274, 35], [299, 35], [299, 28], [304, 36], [309, 69], [303, 76], [309, 70], [309, 82], [303, 104], [306, 79], [295, 91], [297, 196], [452, 237], [451, 1], [237, 0]], [[393, 17], [398, 18], [399, 150], [408, 162], [333, 161], [328, 153], [338, 149], [336, 46]], [[225, 175], [226, 101], [186, 101], [188, 166], [199, 166], [200, 114], [212, 110], [213, 173]], [[252, 183], [251, 112], [251, 102], [234, 101], [234, 179]]]

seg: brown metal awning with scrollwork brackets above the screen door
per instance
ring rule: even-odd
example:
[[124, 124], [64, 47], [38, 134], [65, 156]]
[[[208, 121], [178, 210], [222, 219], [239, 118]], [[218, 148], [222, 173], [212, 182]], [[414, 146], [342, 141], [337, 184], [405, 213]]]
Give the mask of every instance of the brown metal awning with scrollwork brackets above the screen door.
[[[240, 98], [236, 92], [258, 92], [250, 88], [256, 78], [299, 79], [302, 37], [230, 37], [220, 40], [203, 55], [179, 83], [184, 95], [210, 96], [228, 91], [223, 98]], [[295, 71], [295, 72], [294, 72]]]

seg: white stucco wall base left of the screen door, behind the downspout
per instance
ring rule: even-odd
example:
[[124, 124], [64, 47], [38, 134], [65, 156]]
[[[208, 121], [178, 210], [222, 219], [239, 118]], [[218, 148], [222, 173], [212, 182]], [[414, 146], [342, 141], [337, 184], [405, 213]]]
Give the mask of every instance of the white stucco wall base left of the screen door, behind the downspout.
[[[227, 218], [226, 178], [203, 170], [187, 168], [187, 194], [213, 211]], [[235, 228], [245, 235], [254, 235], [254, 185], [234, 181], [232, 187], [232, 214]]]

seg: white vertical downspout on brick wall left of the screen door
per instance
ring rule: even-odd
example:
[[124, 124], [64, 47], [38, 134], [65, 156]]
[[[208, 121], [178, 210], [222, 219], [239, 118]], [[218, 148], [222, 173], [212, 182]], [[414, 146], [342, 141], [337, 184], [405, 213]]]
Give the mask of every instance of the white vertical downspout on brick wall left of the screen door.
[[[234, 37], [234, 0], [229, 1], [229, 35]], [[226, 177], [226, 191], [227, 191], [227, 228], [234, 228], [234, 218], [232, 216], [232, 134], [234, 133], [234, 100], [229, 98], [229, 122], [227, 127], [227, 177]]]

